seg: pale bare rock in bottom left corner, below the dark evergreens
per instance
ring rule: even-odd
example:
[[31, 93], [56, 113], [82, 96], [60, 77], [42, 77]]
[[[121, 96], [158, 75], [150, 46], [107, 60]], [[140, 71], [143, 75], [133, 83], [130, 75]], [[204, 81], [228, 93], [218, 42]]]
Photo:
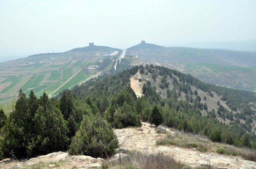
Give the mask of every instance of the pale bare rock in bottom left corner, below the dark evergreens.
[[14, 168], [14, 166], [15, 168], [36, 168], [40, 166], [42, 169], [99, 168], [102, 162], [105, 162], [102, 158], [85, 155], [69, 156], [67, 153], [60, 151], [23, 161], [5, 159], [0, 161], [0, 169]]

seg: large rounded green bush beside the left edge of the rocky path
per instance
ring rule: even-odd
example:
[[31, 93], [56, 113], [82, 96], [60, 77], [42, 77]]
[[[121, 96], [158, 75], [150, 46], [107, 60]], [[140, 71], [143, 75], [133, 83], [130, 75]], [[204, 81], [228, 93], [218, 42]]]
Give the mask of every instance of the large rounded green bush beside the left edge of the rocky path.
[[101, 115], [85, 116], [71, 141], [68, 153], [105, 158], [115, 153], [117, 144], [111, 125]]

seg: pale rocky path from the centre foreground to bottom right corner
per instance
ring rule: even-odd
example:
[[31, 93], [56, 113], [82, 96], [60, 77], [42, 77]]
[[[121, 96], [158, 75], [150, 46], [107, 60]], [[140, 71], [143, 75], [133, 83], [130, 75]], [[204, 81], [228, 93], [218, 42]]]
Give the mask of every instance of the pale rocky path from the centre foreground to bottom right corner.
[[[167, 130], [166, 130], [167, 131]], [[148, 154], [164, 153], [173, 156], [175, 159], [188, 166], [207, 166], [231, 169], [256, 169], [256, 162], [247, 161], [242, 158], [230, 158], [229, 156], [215, 153], [203, 154], [197, 150], [182, 149], [174, 146], [157, 146], [157, 139], [163, 137], [158, 134], [153, 125], [142, 122], [140, 130], [136, 128], [116, 129], [119, 142], [129, 150], [147, 152]], [[167, 131], [173, 133], [173, 131]]]

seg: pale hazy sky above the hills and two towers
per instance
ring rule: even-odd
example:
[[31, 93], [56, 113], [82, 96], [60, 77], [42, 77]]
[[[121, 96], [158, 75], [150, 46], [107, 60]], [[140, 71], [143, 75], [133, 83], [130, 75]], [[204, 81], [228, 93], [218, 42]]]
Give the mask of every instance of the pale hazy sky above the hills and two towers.
[[0, 0], [0, 57], [256, 39], [256, 0]]

